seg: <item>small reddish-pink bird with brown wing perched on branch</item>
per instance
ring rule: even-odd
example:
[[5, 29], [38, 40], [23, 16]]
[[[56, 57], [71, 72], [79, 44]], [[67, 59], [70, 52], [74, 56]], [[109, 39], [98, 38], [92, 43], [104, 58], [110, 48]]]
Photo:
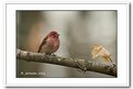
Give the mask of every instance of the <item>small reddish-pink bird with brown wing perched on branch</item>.
[[48, 33], [44, 37], [42, 44], [38, 47], [37, 53], [45, 53], [46, 55], [54, 54], [59, 48], [59, 34], [56, 31]]

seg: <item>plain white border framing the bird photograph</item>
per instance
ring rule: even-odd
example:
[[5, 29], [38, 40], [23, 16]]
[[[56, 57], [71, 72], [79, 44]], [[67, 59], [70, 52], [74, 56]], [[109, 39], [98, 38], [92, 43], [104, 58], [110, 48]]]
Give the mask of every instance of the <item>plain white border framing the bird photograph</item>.
[[[7, 4], [7, 87], [129, 87], [129, 4]], [[118, 78], [15, 78], [15, 10], [118, 10]]]

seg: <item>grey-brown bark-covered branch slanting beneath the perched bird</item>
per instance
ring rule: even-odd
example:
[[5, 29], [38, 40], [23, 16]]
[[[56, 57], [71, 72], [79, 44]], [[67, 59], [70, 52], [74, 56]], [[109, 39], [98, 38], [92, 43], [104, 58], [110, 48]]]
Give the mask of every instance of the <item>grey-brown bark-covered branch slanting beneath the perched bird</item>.
[[21, 49], [16, 51], [16, 58], [26, 62], [47, 63], [66, 67], [79, 68], [82, 70], [91, 70], [117, 77], [115, 66], [92, 63], [90, 60], [85, 60], [85, 59], [77, 59], [77, 58], [74, 59], [70, 57], [64, 58], [59, 56], [45, 55], [41, 53], [33, 53]]

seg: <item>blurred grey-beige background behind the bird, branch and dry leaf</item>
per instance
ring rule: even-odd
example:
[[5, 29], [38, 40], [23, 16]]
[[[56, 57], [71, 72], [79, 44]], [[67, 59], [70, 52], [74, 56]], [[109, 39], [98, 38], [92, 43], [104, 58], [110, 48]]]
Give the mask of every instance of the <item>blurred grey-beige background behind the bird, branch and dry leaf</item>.
[[[92, 59], [93, 45], [102, 45], [117, 64], [118, 12], [110, 11], [16, 11], [16, 48], [37, 52], [47, 33], [57, 31], [60, 47], [55, 53], [62, 57], [84, 58], [108, 64], [101, 58]], [[71, 54], [71, 55], [70, 55]], [[27, 75], [25, 75], [27, 73]], [[29, 73], [42, 73], [31, 75]], [[84, 71], [52, 64], [16, 59], [19, 78], [113, 78], [93, 71]]]

